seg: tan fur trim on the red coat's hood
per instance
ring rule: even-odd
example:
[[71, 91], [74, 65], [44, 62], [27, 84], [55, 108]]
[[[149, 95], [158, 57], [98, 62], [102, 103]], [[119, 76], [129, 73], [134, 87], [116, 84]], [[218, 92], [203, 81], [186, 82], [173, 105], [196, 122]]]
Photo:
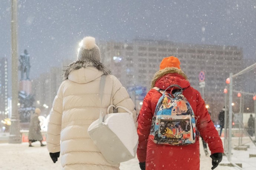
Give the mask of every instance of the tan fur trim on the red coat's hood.
[[187, 75], [181, 69], [178, 69], [176, 67], [167, 67], [167, 68], [164, 68], [164, 69], [155, 73], [155, 75], [153, 76], [153, 78], [151, 80], [150, 88], [153, 88], [155, 86], [155, 82], [157, 81], [157, 79], [159, 79], [160, 77], [163, 77], [165, 74], [169, 74], [169, 73], [180, 74], [181, 76], [183, 76], [188, 81]]

